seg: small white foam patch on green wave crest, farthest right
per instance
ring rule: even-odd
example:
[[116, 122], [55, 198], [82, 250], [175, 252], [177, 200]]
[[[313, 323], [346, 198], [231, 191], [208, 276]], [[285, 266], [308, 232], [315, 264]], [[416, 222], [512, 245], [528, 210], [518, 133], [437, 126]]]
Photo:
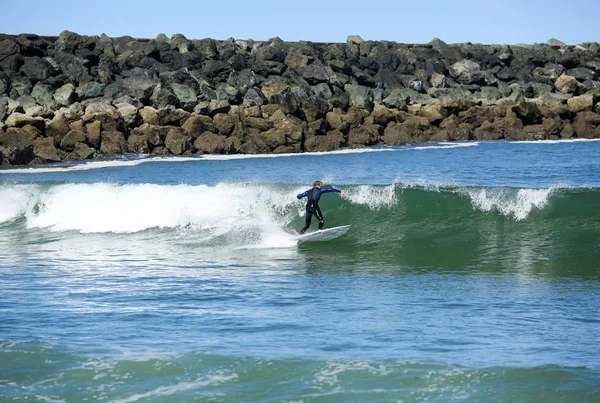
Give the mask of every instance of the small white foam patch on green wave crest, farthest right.
[[534, 209], [544, 208], [552, 189], [470, 189], [466, 193], [475, 208], [485, 212], [498, 211], [520, 221]]

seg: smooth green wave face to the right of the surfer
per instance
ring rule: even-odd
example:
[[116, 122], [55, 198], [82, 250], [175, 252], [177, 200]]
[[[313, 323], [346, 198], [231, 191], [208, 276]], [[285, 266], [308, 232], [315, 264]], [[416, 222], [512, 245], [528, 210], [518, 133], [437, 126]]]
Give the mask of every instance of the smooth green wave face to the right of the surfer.
[[348, 252], [348, 263], [574, 275], [598, 268], [596, 189], [368, 186], [350, 189], [348, 200], [322, 200], [326, 225], [352, 230], [311, 247]]

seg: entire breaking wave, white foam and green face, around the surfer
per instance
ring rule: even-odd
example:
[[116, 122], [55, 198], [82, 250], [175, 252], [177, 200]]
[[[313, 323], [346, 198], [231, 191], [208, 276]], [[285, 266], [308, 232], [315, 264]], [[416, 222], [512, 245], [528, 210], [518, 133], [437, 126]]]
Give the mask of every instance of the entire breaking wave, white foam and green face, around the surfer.
[[152, 251], [153, 244], [169, 251], [203, 249], [203, 256], [285, 249], [317, 268], [334, 262], [561, 275], [594, 275], [600, 261], [596, 188], [349, 186], [347, 197], [325, 194], [320, 205], [326, 228], [351, 224], [350, 231], [298, 245], [305, 199], [295, 196], [304, 190], [268, 184], [5, 184], [0, 246], [59, 240], [69, 253], [86, 250], [94, 239], [98, 247], [134, 254]]

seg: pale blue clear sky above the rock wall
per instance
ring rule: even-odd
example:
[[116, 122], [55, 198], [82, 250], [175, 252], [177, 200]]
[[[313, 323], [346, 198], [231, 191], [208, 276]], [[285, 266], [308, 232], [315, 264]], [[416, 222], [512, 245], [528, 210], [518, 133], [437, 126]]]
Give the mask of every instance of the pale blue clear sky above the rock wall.
[[567, 44], [600, 42], [600, 0], [420, 1], [4, 1], [0, 32], [58, 35], [182, 33], [214, 38], [345, 42], [515, 44], [557, 38]]

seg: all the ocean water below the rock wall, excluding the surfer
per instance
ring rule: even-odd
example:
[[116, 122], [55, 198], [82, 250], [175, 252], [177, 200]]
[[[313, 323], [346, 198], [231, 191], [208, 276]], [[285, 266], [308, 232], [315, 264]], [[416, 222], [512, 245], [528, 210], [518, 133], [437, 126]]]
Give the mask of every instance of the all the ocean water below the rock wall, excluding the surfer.
[[[500, 141], [2, 169], [0, 401], [600, 401], [599, 155]], [[323, 195], [325, 226], [352, 227], [299, 244], [316, 179], [348, 191]]]

